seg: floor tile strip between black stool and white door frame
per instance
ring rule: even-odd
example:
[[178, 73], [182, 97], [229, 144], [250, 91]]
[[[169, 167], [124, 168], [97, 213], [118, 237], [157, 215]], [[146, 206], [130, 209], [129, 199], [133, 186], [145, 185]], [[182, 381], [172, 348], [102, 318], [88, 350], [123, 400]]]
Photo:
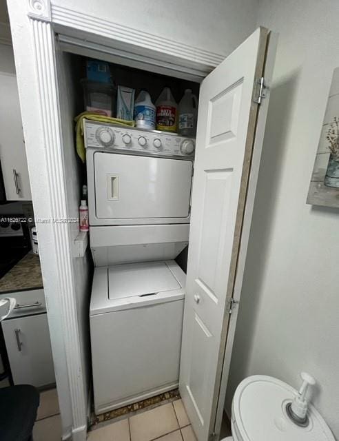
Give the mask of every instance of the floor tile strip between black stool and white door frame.
[[40, 393], [37, 421], [33, 429], [34, 441], [60, 441], [61, 419], [56, 389]]

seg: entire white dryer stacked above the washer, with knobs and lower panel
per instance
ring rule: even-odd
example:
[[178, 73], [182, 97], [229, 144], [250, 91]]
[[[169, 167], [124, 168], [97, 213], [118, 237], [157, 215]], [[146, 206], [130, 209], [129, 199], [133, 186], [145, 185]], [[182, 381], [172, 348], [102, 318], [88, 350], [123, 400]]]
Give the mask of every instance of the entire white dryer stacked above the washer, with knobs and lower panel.
[[84, 121], [95, 266], [175, 258], [187, 246], [194, 140]]

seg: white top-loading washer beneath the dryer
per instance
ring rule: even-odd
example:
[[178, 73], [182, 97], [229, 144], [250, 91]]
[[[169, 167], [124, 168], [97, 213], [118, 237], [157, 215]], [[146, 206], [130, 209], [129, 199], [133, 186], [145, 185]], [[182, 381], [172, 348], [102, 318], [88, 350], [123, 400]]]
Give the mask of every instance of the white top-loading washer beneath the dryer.
[[184, 296], [185, 273], [174, 260], [94, 269], [96, 414], [178, 386]]

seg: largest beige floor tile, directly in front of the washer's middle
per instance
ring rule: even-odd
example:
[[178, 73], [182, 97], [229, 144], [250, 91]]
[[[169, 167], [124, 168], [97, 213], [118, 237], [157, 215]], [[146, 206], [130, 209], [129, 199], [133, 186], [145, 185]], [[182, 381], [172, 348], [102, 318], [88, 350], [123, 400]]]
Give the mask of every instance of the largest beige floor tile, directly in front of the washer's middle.
[[178, 429], [172, 403], [163, 404], [130, 418], [131, 440], [150, 441]]

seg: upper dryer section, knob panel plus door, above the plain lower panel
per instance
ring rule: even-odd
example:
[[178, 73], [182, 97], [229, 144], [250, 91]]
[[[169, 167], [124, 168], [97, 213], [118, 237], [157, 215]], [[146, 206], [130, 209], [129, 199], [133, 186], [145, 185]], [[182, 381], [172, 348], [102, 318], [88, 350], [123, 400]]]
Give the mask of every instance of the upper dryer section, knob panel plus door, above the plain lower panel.
[[90, 226], [189, 223], [194, 140], [85, 121]]

